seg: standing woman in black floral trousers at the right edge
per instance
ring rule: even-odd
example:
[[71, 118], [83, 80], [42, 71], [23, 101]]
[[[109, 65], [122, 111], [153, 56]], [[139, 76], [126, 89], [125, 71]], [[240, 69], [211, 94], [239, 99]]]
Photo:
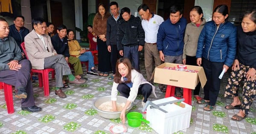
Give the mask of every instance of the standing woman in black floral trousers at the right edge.
[[[225, 106], [226, 109], [240, 109], [232, 120], [241, 121], [246, 118], [250, 105], [256, 94], [256, 10], [244, 14], [241, 26], [237, 29], [237, 52], [228, 78], [224, 97], [233, 97], [233, 102]], [[238, 97], [238, 88], [241, 81], [243, 98]]]

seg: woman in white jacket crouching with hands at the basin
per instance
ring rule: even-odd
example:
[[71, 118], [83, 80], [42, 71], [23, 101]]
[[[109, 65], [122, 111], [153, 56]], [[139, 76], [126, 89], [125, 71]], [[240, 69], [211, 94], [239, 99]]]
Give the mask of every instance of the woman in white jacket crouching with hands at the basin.
[[121, 111], [120, 119], [122, 123], [125, 123], [125, 111], [128, 106], [134, 102], [137, 94], [143, 95], [142, 105], [144, 107], [151, 93], [155, 97], [155, 87], [148, 83], [147, 80], [138, 71], [132, 68], [131, 61], [128, 58], [120, 58], [116, 62], [116, 75], [114, 77], [113, 87], [111, 91], [111, 100], [113, 104], [113, 110], [116, 108], [116, 96], [118, 91], [122, 96], [127, 98], [124, 108]]

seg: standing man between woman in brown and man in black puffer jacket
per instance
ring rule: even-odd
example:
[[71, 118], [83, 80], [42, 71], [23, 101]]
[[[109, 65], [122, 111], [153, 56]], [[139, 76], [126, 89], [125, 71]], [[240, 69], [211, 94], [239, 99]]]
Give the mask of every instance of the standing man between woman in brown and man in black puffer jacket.
[[113, 76], [109, 77], [108, 79], [113, 80], [116, 74], [116, 61], [117, 59], [122, 57], [117, 51], [117, 46], [116, 46], [117, 22], [122, 20], [122, 16], [119, 13], [118, 3], [116, 3], [115, 1], [112, 1], [109, 5], [110, 5], [110, 11], [113, 15], [108, 17], [106, 38], [107, 38], [108, 51], [111, 52], [110, 61], [111, 61]]

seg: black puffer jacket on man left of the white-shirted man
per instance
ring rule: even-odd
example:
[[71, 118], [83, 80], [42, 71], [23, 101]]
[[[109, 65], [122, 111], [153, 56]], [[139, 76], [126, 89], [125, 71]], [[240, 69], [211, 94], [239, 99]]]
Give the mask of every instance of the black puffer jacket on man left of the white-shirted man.
[[123, 46], [144, 46], [145, 32], [141, 26], [140, 17], [131, 18], [128, 21], [120, 20], [117, 25], [117, 49], [123, 50]]

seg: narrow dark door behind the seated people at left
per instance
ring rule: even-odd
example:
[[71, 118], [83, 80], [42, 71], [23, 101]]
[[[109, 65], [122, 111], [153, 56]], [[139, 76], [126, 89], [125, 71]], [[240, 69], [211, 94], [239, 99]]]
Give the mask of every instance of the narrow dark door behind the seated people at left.
[[[61, 2], [51, 0], [50, 1], [50, 8], [51, 8], [52, 23], [53, 23], [53, 25], [56, 29], [58, 26], [63, 24]], [[54, 34], [56, 34], [56, 33], [57, 33], [57, 31], [54, 30]]]

